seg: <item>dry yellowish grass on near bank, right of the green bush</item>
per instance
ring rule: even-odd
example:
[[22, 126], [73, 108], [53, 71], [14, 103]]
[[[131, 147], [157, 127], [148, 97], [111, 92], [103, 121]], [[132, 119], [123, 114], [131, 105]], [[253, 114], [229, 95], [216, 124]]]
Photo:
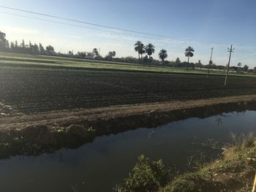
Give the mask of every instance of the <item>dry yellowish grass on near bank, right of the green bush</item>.
[[160, 191], [251, 191], [255, 169], [256, 137], [249, 134], [221, 159], [176, 177]]

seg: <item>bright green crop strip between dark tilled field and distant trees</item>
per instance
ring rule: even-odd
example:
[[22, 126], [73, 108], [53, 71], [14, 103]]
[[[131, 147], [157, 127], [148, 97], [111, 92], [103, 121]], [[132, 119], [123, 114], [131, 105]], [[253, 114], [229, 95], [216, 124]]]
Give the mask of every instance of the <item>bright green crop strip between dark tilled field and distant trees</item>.
[[[0, 53], [0, 69], [6, 67], [33, 67], [38, 69], [89, 69], [106, 71], [139, 71], [139, 72], [164, 72], [164, 73], [188, 73], [207, 74], [206, 69], [180, 69], [170, 66], [142, 66], [116, 61], [97, 61], [80, 58], [64, 58], [47, 55], [26, 55], [18, 53]], [[225, 74], [224, 71], [211, 70], [211, 74]], [[235, 74], [238, 76], [254, 76], [256, 74]]]

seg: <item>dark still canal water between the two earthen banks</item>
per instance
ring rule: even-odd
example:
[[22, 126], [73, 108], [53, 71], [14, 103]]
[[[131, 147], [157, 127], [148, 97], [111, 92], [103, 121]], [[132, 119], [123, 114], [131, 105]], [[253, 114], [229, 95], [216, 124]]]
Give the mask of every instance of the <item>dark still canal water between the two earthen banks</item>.
[[200, 153], [217, 158], [222, 150], [199, 143], [228, 142], [230, 133], [248, 134], [255, 125], [255, 111], [229, 112], [97, 137], [78, 149], [15, 156], [0, 161], [1, 191], [113, 191], [141, 154], [162, 158], [165, 166], [184, 166]]

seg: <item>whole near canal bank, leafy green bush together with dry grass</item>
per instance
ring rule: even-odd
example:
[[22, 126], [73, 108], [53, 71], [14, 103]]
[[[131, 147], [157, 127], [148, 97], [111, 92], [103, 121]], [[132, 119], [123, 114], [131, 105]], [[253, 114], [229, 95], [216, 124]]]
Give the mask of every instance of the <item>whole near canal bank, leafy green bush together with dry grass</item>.
[[194, 172], [170, 177], [162, 160], [149, 161], [140, 155], [138, 163], [116, 191], [251, 191], [256, 170], [256, 137], [233, 137], [222, 158], [202, 165]]

